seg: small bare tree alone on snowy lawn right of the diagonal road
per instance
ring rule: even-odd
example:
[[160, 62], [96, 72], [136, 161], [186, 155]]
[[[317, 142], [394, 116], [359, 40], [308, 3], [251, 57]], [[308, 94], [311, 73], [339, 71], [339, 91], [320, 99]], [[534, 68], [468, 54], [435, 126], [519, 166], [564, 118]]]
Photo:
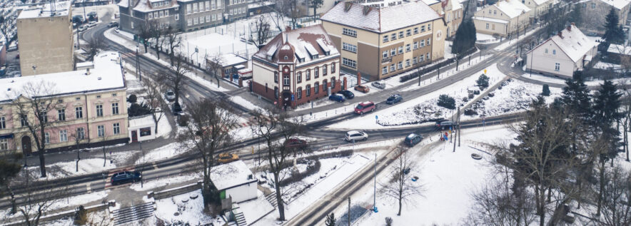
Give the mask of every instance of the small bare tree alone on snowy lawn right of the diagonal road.
[[394, 154], [397, 157], [395, 165], [392, 166], [392, 172], [390, 173], [390, 181], [383, 184], [383, 191], [385, 195], [398, 200], [399, 211], [397, 215], [401, 215], [401, 209], [403, 203], [405, 204], [413, 202], [413, 198], [423, 195], [423, 186], [420, 182], [413, 183], [410, 170], [415, 168], [415, 163], [410, 159], [407, 148], [403, 145], [397, 145]]

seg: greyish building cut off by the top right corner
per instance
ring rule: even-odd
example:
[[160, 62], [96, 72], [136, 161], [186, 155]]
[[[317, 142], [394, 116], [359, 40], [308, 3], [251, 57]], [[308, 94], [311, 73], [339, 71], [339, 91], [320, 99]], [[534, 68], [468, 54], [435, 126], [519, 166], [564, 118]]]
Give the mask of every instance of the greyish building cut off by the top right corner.
[[583, 0], [580, 1], [580, 15], [583, 19], [579, 24], [580, 29], [595, 34], [605, 34], [605, 17], [611, 9], [618, 14], [619, 24], [627, 24], [629, 0]]

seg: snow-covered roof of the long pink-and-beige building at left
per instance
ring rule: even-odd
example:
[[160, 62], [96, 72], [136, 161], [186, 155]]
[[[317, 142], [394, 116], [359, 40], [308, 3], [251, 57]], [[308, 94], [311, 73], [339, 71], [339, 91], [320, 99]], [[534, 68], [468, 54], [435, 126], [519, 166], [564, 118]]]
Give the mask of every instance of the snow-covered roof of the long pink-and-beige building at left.
[[[63, 96], [73, 93], [92, 93], [125, 88], [125, 78], [118, 63], [119, 53], [101, 52], [94, 56], [94, 69], [86, 75], [86, 70], [66, 71], [17, 78], [1, 78], [0, 90], [8, 95], [1, 95], [0, 101], [11, 101], [19, 95], [26, 96], [22, 88], [27, 84], [51, 86], [50, 91], [41, 95]], [[29, 96], [26, 96], [27, 98]]]

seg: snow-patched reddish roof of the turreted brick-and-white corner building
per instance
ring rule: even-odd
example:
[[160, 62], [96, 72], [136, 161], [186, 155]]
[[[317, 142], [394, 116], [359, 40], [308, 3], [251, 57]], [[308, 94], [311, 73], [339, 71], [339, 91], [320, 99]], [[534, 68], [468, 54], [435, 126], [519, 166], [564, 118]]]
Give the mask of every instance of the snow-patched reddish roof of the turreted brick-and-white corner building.
[[[326, 52], [328, 51], [328, 55]], [[283, 55], [281, 57], [281, 55]], [[315, 57], [317, 55], [318, 57]], [[284, 59], [284, 56], [288, 56]], [[272, 63], [294, 62], [298, 65], [313, 61], [326, 61], [340, 53], [321, 24], [302, 29], [283, 31], [254, 53], [254, 57]], [[304, 61], [298, 62], [304, 58]]]

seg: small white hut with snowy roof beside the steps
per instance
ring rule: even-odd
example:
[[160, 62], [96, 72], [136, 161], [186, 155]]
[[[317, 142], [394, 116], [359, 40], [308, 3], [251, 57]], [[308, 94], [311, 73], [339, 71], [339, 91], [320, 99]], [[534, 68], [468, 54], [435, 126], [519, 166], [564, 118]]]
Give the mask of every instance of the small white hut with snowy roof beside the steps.
[[213, 167], [211, 181], [221, 200], [245, 202], [257, 197], [258, 180], [242, 160]]

